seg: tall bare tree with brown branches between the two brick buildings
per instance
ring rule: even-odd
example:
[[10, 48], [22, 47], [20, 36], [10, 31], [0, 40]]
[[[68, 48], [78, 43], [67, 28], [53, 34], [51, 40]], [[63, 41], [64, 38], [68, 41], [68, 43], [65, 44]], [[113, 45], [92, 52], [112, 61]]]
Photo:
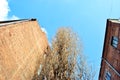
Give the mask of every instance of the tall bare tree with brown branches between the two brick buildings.
[[40, 80], [91, 80], [83, 57], [78, 35], [71, 28], [59, 28], [42, 64]]

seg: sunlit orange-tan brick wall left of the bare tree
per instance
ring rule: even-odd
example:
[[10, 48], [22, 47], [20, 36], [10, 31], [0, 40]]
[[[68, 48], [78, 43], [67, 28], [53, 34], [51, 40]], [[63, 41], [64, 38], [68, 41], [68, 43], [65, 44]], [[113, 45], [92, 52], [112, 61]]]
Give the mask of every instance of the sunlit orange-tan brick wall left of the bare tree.
[[47, 47], [37, 21], [0, 26], [0, 80], [31, 80]]

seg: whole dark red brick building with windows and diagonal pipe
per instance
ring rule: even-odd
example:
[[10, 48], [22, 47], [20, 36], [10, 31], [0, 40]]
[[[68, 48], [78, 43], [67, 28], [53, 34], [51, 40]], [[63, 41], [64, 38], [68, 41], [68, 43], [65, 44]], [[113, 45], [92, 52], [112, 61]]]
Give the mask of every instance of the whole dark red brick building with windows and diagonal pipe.
[[99, 80], [120, 80], [120, 20], [108, 19]]

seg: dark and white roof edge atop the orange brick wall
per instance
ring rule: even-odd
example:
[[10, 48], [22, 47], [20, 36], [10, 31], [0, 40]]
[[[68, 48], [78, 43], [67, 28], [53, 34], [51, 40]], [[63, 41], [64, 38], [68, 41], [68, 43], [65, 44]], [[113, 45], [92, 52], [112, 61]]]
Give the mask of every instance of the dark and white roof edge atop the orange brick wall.
[[19, 22], [24, 22], [24, 21], [36, 21], [36, 18], [31, 18], [31, 19], [19, 19], [19, 20], [7, 20], [7, 21], [0, 21], [0, 26], [8, 25], [8, 24], [14, 24], [14, 23], [19, 23]]

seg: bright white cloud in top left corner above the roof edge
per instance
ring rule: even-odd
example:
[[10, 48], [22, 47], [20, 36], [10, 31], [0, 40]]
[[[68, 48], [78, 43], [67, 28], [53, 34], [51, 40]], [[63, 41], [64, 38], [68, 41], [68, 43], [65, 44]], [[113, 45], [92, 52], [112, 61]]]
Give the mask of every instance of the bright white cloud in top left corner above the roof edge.
[[13, 15], [12, 17], [9, 17], [8, 16], [9, 12], [10, 12], [10, 8], [8, 5], [8, 1], [7, 0], [0, 0], [0, 21], [19, 19], [15, 15]]

